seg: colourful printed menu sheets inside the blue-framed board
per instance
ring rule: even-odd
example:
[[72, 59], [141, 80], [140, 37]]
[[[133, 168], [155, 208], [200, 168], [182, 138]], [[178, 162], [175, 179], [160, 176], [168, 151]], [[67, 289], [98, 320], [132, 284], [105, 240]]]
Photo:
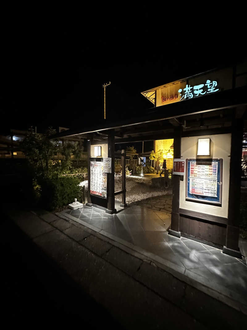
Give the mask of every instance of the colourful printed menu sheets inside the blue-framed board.
[[218, 162], [191, 162], [190, 194], [217, 197]]

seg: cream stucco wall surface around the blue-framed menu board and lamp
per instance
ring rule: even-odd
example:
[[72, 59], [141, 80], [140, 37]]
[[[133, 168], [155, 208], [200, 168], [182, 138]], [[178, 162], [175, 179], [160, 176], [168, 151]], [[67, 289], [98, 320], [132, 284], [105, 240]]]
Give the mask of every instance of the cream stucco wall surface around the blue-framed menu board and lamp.
[[[197, 141], [199, 138], [210, 138], [210, 156], [197, 156]], [[181, 158], [222, 158], [222, 206], [207, 205], [185, 201], [186, 177], [180, 181], [180, 204], [181, 209], [206, 213], [210, 215], [228, 216], [228, 196], [230, 177], [230, 153], [231, 134], [217, 134], [206, 136], [193, 136], [181, 139]], [[187, 169], [186, 169], [187, 170]]]

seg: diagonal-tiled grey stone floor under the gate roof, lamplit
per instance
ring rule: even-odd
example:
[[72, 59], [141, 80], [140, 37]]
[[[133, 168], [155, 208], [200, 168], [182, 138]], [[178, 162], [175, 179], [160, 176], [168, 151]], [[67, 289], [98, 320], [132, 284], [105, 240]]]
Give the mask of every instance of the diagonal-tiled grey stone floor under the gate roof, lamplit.
[[194, 273], [240, 295], [247, 295], [245, 260], [187, 238], [169, 235], [170, 214], [136, 205], [114, 215], [87, 206], [63, 213], [183, 267], [185, 275]]

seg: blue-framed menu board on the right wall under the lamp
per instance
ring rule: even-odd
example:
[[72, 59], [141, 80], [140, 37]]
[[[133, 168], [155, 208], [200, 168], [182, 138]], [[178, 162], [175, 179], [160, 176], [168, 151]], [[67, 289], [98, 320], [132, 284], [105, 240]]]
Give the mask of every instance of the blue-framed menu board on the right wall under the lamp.
[[221, 204], [222, 159], [187, 159], [186, 168], [186, 200]]

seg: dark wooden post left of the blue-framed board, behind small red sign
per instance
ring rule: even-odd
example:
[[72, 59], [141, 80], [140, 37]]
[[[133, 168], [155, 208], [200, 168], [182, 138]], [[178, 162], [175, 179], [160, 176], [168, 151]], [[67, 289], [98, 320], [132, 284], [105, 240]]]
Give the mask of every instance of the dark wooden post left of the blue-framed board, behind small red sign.
[[[174, 158], [181, 158], [181, 134], [182, 127], [177, 126], [174, 128]], [[180, 175], [173, 175], [172, 184], [172, 217], [171, 229], [169, 234], [181, 237], [179, 231], [179, 199], [180, 199]]]

